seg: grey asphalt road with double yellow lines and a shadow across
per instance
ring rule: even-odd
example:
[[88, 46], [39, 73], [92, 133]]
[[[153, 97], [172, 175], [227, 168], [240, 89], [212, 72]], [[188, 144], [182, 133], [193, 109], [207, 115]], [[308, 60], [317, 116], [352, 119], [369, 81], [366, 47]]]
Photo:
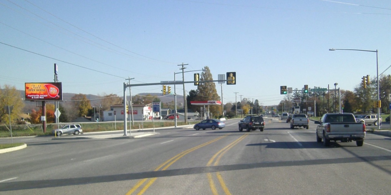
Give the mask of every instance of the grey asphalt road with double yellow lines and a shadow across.
[[[267, 120], [263, 132], [157, 130], [138, 139], [25, 139], [0, 154], [2, 195], [389, 194], [391, 138], [316, 142], [310, 129]], [[28, 139], [28, 140], [26, 140]], [[0, 140], [2, 142], [3, 140]]]

